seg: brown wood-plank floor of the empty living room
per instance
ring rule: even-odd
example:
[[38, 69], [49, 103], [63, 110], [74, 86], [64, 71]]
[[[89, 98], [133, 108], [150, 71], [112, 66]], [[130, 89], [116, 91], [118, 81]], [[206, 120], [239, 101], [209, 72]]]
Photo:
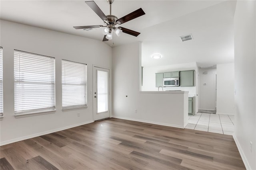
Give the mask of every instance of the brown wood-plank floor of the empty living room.
[[1, 170], [243, 170], [230, 135], [105, 119], [0, 147]]

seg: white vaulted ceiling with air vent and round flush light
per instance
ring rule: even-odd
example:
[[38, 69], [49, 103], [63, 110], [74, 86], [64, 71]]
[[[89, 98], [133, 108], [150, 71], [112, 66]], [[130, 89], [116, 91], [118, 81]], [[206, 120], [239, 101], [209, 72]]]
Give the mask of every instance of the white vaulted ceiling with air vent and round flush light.
[[[109, 14], [106, 0], [95, 2], [105, 15]], [[140, 32], [138, 37], [123, 33], [104, 43], [115, 47], [142, 41], [144, 66], [231, 63], [234, 62], [235, 6], [236, 1], [223, 0], [115, 0], [112, 14], [118, 18], [138, 8], [146, 15], [122, 24], [122, 27]], [[1, 0], [0, 18], [99, 41], [103, 39], [100, 29], [73, 28], [103, 25], [84, 0]], [[179, 37], [189, 33], [194, 39], [182, 42]], [[160, 53], [162, 59], [153, 60], [154, 53]]]

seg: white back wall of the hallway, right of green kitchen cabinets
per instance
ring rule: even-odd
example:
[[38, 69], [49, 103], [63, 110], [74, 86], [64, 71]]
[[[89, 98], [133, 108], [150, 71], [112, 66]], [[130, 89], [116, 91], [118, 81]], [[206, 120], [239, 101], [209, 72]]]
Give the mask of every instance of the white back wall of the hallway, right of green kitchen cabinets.
[[[204, 74], [204, 72], [208, 73]], [[199, 69], [199, 109], [215, 110], [215, 74], [216, 68]]]

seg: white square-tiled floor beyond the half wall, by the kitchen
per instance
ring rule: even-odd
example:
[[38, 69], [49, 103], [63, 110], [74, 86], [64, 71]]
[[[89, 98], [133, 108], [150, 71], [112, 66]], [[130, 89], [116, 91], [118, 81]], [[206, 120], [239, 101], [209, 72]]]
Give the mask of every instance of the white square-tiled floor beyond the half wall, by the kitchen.
[[194, 116], [188, 116], [188, 125], [185, 128], [233, 135], [234, 115], [197, 113]]

